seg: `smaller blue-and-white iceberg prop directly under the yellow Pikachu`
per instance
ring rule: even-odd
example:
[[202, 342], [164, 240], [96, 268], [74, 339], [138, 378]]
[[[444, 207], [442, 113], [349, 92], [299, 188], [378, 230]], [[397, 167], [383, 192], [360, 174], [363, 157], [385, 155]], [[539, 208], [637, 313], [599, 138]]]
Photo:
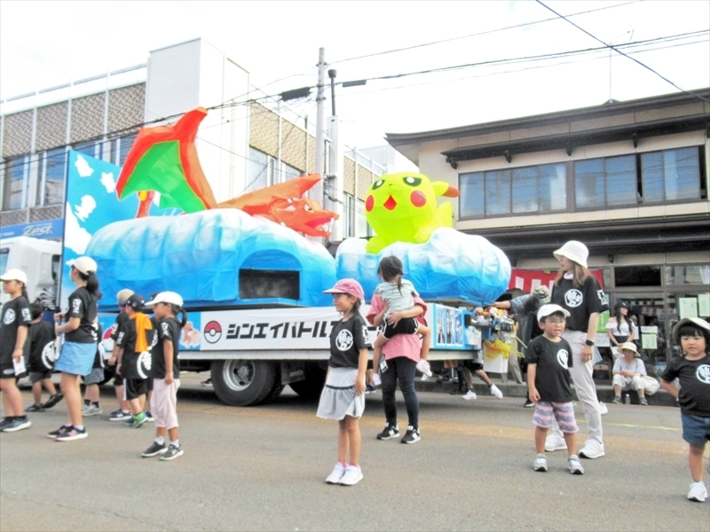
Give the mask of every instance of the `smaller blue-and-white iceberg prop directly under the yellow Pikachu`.
[[428, 242], [395, 242], [379, 254], [367, 254], [364, 239], [345, 239], [338, 247], [335, 261], [338, 278], [356, 278], [372, 298], [377, 266], [383, 257], [395, 255], [404, 265], [408, 278], [425, 301], [460, 300], [485, 305], [508, 289], [508, 257], [488, 240], [442, 227]]

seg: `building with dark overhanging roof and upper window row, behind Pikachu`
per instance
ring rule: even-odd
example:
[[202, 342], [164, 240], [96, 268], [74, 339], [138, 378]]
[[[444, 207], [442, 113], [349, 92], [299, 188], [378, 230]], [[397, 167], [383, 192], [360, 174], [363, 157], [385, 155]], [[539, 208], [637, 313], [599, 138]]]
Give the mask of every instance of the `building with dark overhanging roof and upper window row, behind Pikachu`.
[[611, 305], [658, 327], [647, 352], [666, 360], [679, 317], [710, 317], [710, 90], [694, 93], [387, 140], [460, 189], [457, 229], [501, 247], [521, 278], [555, 272], [552, 252], [584, 242]]

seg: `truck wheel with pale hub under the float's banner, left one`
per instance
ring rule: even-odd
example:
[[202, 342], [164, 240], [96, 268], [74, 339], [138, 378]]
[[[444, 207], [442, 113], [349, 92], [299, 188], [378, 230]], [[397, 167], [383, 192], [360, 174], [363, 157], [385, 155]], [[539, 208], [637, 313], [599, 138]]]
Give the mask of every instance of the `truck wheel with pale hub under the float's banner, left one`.
[[264, 360], [215, 360], [212, 387], [220, 401], [232, 406], [251, 406], [264, 401], [275, 386], [276, 371]]

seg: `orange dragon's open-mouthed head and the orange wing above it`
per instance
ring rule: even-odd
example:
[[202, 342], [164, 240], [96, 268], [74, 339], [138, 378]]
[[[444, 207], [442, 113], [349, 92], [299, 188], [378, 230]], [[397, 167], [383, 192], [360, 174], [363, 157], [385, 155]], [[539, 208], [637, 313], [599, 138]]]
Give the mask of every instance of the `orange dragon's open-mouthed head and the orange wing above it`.
[[249, 215], [263, 216], [304, 235], [327, 237], [330, 231], [325, 225], [336, 220], [338, 215], [320, 207], [318, 201], [302, 198], [304, 192], [319, 181], [319, 174], [296, 177], [286, 183], [248, 192], [217, 207], [239, 208]]

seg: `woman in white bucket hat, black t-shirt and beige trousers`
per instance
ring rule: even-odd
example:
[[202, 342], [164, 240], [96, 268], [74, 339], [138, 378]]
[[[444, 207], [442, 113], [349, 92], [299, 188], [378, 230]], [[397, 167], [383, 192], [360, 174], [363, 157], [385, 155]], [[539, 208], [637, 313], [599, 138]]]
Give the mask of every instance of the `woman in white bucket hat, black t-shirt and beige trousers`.
[[[572, 347], [572, 380], [587, 419], [588, 439], [580, 450], [583, 458], [604, 456], [602, 413], [592, 379], [592, 355], [599, 313], [606, 309], [604, 291], [587, 269], [587, 246], [570, 240], [554, 252], [560, 270], [552, 287], [550, 302], [570, 313], [563, 338]], [[546, 450], [564, 450], [564, 437], [556, 423], [553, 434], [545, 442]]]

